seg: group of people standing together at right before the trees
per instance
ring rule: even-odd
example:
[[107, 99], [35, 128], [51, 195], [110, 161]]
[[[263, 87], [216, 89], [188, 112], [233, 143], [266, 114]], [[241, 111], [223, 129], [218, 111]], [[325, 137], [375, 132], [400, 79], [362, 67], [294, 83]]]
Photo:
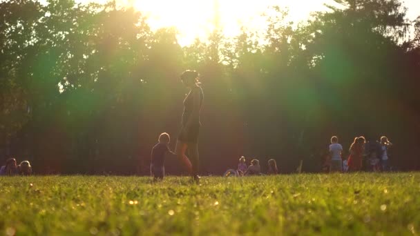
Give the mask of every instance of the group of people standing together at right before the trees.
[[338, 144], [338, 137], [331, 138], [330, 155], [323, 165], [325, 172], [355, 172], [360, 170], [388, 171], [388, 148], [392, 143], [382, 136], [380, 141], [366, 141], [365, 137], [355, 137], [350, 146], [350, 155], [343, 158], [343, 146]]

